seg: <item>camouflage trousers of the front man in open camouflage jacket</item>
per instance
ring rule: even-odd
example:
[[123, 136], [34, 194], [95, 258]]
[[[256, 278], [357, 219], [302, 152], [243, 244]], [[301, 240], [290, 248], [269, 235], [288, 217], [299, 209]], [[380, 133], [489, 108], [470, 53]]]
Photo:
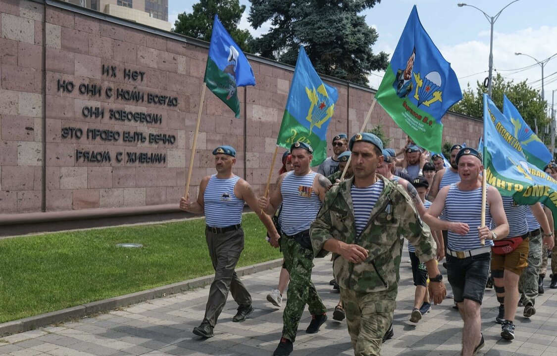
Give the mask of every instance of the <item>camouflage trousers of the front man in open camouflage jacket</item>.
[[383, 335], [393, 322], [397, 291], [356, 293], [340, 288], [355, 356], [380, 356]]

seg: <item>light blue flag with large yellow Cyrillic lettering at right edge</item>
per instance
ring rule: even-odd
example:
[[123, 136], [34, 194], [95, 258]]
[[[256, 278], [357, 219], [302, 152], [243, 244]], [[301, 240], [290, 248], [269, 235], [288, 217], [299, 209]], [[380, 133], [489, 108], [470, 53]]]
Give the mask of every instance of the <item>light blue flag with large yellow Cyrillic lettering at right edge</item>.
[[[526, 161], [520, 142], [505, 135], [505, 118], [487, 94], [483, 95], [483, 166], [487, 183], [521, 205], [541, 202], [557, 216], [557, 181]], [[557, 219], [555, 219], [557, 224]]]

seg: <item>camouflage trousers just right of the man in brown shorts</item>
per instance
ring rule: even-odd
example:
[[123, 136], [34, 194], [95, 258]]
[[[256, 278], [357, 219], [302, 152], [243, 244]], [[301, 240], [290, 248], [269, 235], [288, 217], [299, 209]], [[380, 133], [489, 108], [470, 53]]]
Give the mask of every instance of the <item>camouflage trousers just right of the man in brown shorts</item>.
[[538, 296], [538, 272], [541, 265], [541, 234], [530, 236], [528, 249], [528, 266], [519, 279], [519, 291], [524, 295], [525, 303], [534, 305]]

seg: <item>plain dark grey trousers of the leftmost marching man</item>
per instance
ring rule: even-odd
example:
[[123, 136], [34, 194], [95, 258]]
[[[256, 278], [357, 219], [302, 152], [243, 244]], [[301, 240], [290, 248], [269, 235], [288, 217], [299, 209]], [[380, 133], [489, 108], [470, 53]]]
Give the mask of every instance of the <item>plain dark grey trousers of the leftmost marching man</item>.
[[251, 305], [251, 295], [234, 272], [243, 250], [243, 230], [240, 228], [227, 233], [213, 234], [206, 229], [205, 238], [213, 263], [214, 280], [209, 289], [209, 299], [207, 300], [203, 321], [214, 327], [217, 324], [218, 316], [221, 315], [224, 304], [226, 304], [228, 291], [240, 306]]

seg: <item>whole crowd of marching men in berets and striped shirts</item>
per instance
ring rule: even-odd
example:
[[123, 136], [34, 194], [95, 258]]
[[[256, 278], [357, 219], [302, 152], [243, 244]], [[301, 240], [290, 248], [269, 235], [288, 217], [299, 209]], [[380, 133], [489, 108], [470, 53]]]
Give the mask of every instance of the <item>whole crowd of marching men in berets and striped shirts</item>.
[[[554, 248], [553, 216], [539, 203], [517, 205], [488, 186], [482, 224], [483, 170], [480, 152], [454, 145], [450, 165], [431, 157], [411, 140], [400, 150], [383, 147], [372, 133], [348, 139], [334, 136], [333, 156], [311, 169], [313, 149], [295, 142], [282, 157], [276, 187], [256, 197], [245, 180], [233, 174], [236, 151], [213, 151], [217, 173], [204, 177], [197, 200], [180, 200], [180, 208], [206, 216], [206, 239], [215, 269], [205, 317], [193, 329], [213, 336], [228, 292], [238, 304], [233, 322], [252, 313], [252, 299], [234, 268], [243, 250], [241, 212], [246, 202], [265, 225], [267, 240], [284, 255], [281, 280], [267, 296], [281, 306], [286, 289], [282, 337], [274, 356], [294, 349], [297, 328], [309, 306], [306, 333], [317, 333], [327, 309], [311, 281], [312, 260], [332, 253], [335, 288], [340, 290], [333, 318], [346, 318], [356, 356], [380, 355], [393, 336], [399, 265], [404, 240], [416, 293], [409, 319], [418, 323], [447, 296], [438, 261], [446, 259], [446, 278], [463, 320], [462, 355], [475, 355], [484, 345], [481, 304], [490, 282], [500, 303], [496, 322], [501, 337], [514, 339], [517, 306], [524, 316], [536, 313], [543, 293], [546, 249]], [[557, 177], [557, 166], [545, 171]], [[301, 214], [301, 212], [303, 212]], [[556, 254], [557, 256], [557, 254]], [[557, 288], [557, 261], [551, 261], [551, 288]]]

